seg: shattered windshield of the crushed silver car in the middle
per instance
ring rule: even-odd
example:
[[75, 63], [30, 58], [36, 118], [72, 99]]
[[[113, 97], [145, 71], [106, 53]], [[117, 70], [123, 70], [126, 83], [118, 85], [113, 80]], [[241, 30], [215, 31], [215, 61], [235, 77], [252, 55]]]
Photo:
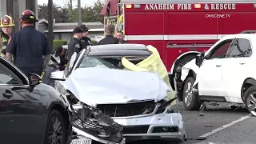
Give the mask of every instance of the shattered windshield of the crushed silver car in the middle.
[[110, 62], [107, 62], [103, 58], [83, 57], [82, 62], [80, 63], [78, 68], [87, 68], [87, 67], [100, 67], [100, 68], [108, 68], [108, 69], [118, 69], [118, 67], [114, 66]]

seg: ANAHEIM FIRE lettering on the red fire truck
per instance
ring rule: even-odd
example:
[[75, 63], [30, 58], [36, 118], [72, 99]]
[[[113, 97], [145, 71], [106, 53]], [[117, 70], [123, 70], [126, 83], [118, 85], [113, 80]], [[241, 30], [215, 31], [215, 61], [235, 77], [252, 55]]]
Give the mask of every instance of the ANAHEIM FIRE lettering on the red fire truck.
[[[178, 10], [192, 10], [192, 4], [178, 4]], [[174, 10], [174, 4], [146, 4], [145, 10]]]

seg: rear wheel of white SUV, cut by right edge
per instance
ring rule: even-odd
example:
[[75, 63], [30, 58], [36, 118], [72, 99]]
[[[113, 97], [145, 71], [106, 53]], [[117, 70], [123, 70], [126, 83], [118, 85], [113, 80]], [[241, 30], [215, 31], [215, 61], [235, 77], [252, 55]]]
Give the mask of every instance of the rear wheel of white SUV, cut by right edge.
[[249, 111], [249, 113], [255, 117], [256, 116], [256, 86], [250, 86], [246, 90], [245, 104], [246, 104], [246, 109]]

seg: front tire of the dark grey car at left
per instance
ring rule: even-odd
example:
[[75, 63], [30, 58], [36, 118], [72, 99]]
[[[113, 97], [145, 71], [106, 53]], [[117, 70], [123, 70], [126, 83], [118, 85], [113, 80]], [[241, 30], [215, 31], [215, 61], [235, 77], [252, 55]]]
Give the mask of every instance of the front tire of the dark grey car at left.
[[[54, 123], [57, 122], [59, 126], [56, 126], [55, 130], [57, 128], [61, 127], [56, 135], [52, 133], [52, 130], [54, 130]], [[46, 123], [46, 133], [45, 133], [45, 139], [44, 139], [44, 144], [51, 144], [51, 142], [54, 140], [54, 138], [60, 138], [60, 141], [58, 142], [53, 142], [54, 144], [66, 144], [66, 132], [67, 132], [67, 126], [65, 125], [65, 121], [62, 117], [62, 114], [58, 110], [52, 110], [47, 118], [47, 123]], [[58, 133], [59, 132], [59, 133]], [[60, 133], [62, 132], [62, 133]], [[51, 134], [53, 134], [54, 138], [50, 138]]]

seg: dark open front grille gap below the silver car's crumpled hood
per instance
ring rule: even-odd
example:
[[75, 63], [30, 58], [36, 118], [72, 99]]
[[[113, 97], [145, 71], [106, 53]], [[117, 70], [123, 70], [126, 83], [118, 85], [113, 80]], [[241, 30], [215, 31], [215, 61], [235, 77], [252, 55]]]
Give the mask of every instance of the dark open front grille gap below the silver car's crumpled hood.
[[127, 117], [140, 114], [151, 114], [155, 109], [154, 101], [135, 102], [126, 104], [101, 104], [97, 105], [102, 113], [110, 117]]

